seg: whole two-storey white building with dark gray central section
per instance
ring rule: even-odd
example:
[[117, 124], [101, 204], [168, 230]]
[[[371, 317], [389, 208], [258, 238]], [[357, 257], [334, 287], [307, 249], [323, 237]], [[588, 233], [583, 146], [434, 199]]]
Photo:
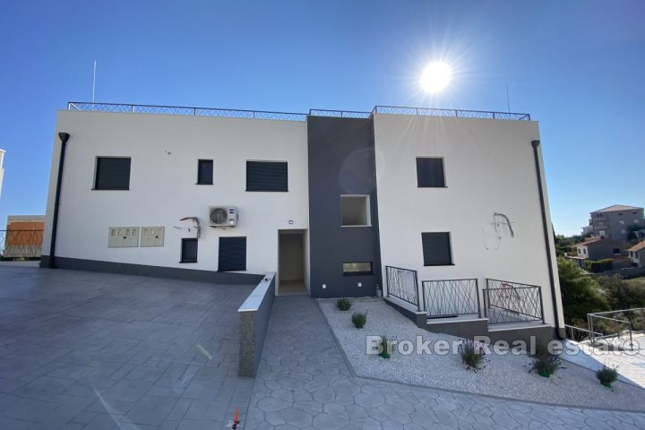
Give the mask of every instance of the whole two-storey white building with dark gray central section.
[[[236, 226], [211, 227], [213, 207], [234, 208]], [[525, 114], [70, 103], [42, 262], [227, 283], [277, 271], [278, 294], [383, 289], [417, 314], [530, 314], [520, 321], [553, 330], [552, 237], [538, 123]], [[475, 301], [477, 312], [463, 305]]]

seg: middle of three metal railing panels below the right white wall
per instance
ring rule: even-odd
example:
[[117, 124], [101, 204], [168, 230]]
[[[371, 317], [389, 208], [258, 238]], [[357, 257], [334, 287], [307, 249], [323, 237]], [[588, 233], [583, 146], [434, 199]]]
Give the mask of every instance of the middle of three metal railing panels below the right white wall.
[[424, 280], [421, 284], [428, 317], [481, 316], [476, 279]]

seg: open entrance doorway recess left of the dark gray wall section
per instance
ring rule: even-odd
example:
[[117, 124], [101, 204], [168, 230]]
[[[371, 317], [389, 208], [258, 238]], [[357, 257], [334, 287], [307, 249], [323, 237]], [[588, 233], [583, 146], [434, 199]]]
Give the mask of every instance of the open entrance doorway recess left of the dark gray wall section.
[[305, 230], [278, 232], [278, 295], [308, 294], [305, 281]]

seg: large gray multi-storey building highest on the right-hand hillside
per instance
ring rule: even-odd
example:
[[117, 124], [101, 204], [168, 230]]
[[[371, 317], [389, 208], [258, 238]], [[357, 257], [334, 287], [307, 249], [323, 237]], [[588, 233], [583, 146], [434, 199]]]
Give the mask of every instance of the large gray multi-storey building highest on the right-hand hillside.
[[611, 237], [627, 242], [630, 231], [634, 228], [645, 228], [643, 208], [615, 204], [593, 211], [589, 214], [589, 226], [594, 237]]

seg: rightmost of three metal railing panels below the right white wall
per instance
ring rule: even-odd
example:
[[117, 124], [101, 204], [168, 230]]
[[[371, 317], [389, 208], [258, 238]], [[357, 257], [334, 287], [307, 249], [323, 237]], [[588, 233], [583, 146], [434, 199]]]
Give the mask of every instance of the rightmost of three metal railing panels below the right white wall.
[[486, 279], [484, 312], [489, 324], [542, 321], [542, 288], [506, 280]]

